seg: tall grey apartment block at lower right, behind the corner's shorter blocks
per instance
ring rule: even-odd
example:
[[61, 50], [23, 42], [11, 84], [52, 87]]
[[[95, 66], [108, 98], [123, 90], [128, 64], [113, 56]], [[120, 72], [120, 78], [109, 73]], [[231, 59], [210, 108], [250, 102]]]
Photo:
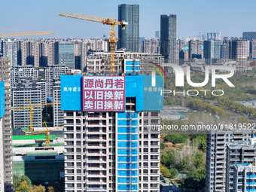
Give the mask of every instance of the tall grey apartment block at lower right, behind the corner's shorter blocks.
[[[241, 143], [249, 142], [254, 136], [255, 133], [251, 130], [212, 130], [207, 133], [207, 192], [230, 192], [230, 187], [233, 186], [231, 178], [234, 163], [247, 162], [246, 160], [251, 162], [251, 157], [255, 156], [254, 153], [251, 156], [246, 149], [241, 150]], [[249, 158], [246, 159], [247, 157]]]

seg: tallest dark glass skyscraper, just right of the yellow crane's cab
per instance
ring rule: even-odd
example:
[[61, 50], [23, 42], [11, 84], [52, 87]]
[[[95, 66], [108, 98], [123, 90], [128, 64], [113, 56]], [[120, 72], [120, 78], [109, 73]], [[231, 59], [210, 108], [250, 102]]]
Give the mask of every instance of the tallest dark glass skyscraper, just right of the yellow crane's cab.
[[118, 20], [125, 20], [128, 26], [118, 26], [118, 48], [139, 52], [139, 5], [118, 5]]

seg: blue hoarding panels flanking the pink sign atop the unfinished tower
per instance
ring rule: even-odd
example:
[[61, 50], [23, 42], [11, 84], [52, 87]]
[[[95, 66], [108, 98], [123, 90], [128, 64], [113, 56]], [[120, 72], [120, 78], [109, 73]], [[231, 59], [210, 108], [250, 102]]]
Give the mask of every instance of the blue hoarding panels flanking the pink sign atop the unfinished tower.
[[[86, 76], [85, 76], [86, 77]], [[91, 77], [91, 76], [88, 76]], [[61, 75], [61, 109], [82, 111], [83, 75]], [[151, 75], [126, 75], [125, 97], [136, 98], [136, 111], [160, 111], [163, 109], [163, 79], [156, 75], [156, 86], [151, 86]]]

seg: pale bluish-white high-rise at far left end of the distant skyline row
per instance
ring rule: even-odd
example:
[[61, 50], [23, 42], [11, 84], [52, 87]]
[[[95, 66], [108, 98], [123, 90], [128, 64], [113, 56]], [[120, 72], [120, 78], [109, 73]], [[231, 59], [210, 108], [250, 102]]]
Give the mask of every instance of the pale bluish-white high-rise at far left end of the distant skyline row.
[[17, 65], [17, 41], [15, 39], [2, 40], [2, 56], [10, 59], [11, 66]]

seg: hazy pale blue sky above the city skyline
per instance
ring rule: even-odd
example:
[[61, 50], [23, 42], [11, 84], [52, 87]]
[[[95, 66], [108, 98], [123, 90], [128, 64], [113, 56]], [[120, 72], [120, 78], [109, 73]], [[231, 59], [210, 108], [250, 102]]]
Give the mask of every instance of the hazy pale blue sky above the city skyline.
[[[177, 37], [200, 32], [241, 37], [242, 32], [256, 31], [256, 0], [2, 0], [0, 27], [54, 32], [41, 38], [102, 38], [109, 34], [110, 26], [60, 17], [59, 11], [118, 19], [118, 5], [123, 3], [139, 4], [140, 37], [151, 38], [160, 31], [161, 14], [177, 15]], [[0, 29], [0, 33], [6, 32]]]

